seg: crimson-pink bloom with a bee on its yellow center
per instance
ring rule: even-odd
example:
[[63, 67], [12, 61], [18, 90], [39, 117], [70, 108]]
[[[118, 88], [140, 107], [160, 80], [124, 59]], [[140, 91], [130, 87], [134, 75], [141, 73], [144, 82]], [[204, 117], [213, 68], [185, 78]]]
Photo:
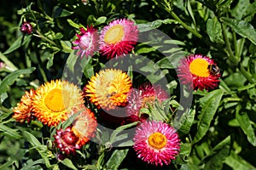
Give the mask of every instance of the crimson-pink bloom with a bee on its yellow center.
[[[214, 70], [212, 68], [214, 67]], [[212, 89], [218, 86], [220, 71], [216, 63], [200, 54], [189, 55], [180, 61], [177, 67], [177, 76], [181, 83], [189, 85], [190, 88]]]

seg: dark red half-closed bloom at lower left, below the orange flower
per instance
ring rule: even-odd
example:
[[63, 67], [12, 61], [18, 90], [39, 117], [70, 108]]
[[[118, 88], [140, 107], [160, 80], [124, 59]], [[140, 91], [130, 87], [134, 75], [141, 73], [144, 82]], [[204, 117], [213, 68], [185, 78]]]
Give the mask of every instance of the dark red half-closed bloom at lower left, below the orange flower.
[[67, 127], [65, 130], [57, 129], [54, 135], [55, 144], [62, 152], [67, 155], [74, 154], [76, 150], [79, 150], [81, 146], [77, 144], [79, 138], [73, 133], [71, 127]]

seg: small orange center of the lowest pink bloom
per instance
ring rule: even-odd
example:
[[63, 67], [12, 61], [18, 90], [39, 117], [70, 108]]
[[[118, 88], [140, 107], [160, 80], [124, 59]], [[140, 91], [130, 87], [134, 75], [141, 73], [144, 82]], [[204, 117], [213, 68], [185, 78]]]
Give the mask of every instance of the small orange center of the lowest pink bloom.
[[167, 144], [166, 136], [162, 133], [153, 133], [148, 137], [148, 144], [155, 149], [162, 149]]

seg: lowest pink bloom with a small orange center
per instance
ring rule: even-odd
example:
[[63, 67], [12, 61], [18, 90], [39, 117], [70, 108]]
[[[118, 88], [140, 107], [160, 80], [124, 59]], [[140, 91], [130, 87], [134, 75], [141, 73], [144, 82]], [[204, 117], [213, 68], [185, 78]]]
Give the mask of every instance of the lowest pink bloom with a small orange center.
[[133, 138], [137, 157], [156, 166], [170, 164], [180, 150], [176, 130], [164, 122], [143, 122]]

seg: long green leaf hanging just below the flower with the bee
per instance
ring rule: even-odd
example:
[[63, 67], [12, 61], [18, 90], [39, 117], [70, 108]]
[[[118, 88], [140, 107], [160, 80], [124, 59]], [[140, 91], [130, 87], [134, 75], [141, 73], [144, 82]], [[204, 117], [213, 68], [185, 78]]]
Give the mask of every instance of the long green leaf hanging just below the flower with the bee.
[[193, 143], [200, 141], [207, 133], [223, 94], [224, 92], [222, 90], [217, 89], [200, 99], [201, 113], [198, 116], [199, 122]]

